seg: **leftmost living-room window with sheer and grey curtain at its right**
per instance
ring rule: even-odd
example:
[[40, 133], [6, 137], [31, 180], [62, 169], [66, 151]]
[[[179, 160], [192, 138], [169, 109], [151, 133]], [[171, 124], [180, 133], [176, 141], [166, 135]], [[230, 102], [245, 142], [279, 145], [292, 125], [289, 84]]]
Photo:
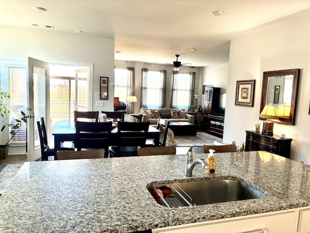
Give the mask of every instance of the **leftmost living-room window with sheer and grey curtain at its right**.
[[[134, 95], [134, 67], [114, 68], [114, 97], [126, 102], [127, 96]], [[127, 103], [127, 111], [133, 112], [133, 105]]]

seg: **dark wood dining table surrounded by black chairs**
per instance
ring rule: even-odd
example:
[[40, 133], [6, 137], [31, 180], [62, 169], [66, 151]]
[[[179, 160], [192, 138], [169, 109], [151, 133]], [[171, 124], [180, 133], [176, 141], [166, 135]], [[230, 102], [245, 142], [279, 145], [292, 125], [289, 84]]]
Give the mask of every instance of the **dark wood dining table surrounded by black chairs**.
[[[61, 142], [76, 140], [75, 122], [58, 122], [53, 131], [54, 136], [54, 156], [57, 158], [57, 151], [61, 150]], [[160, 131], [153, 126], [149, 126], [147, 139], [154, 140], [155, 146], [159, 146]], [[117, 145], [117, 127], [111, 130], [110, 146]]]

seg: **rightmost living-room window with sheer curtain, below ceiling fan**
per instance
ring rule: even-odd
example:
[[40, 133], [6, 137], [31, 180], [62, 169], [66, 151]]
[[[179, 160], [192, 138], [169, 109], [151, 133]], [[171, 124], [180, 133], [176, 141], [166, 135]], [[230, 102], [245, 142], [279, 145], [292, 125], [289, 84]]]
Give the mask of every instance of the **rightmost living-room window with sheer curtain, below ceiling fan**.
[[195, 72], [173, 73], [171, 108], [185, 109], [194, 104]]

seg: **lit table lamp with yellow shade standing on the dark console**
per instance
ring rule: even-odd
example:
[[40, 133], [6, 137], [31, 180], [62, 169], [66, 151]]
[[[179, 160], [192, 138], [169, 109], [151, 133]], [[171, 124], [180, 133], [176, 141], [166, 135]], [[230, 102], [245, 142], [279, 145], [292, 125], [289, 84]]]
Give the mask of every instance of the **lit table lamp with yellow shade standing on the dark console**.
[[273, 135], [274, 123], [271, 122], [269, 119], [279, 119], [276, 106], [272, 105], [271, 102], [269, 104], [266, 104], [260, 114], [260, 117], [267, 118], [267, 120], [263, 122], [262, 133]]

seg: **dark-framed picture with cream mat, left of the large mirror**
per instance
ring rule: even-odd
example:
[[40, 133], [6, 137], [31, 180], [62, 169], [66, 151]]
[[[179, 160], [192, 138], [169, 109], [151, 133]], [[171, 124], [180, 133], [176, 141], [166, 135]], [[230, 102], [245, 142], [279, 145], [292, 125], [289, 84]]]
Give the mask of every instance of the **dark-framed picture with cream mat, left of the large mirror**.
[[255, 80], [237, 81], [234, 105], [253, 107]]

